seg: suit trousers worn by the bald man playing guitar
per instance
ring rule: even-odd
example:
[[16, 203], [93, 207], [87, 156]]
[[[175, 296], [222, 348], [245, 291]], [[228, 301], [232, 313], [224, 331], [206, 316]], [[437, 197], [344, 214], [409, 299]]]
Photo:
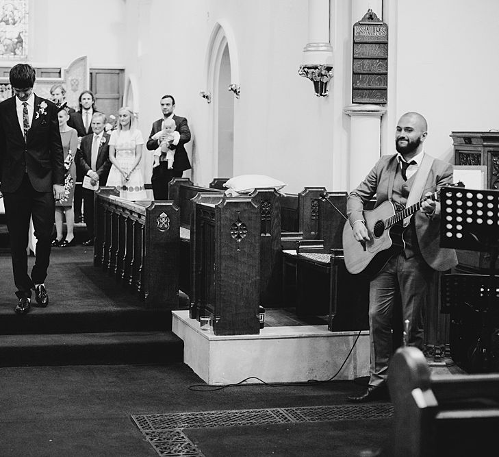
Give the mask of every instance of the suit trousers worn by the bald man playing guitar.
[[[424, 348], [423, 310], [428, 289], [435, 279], [435, 271], [426, 264], [419, 252], [392, 257], [381, 272], [370, 282], [369, 342], [370, 386], [379, 386], [387, 380], [388, 363], [394, 348], [392, 330], [400, 329], [394, 317], [409, 320], [408, 345]], [[402, 310], [396, 310], [401, 304]]]

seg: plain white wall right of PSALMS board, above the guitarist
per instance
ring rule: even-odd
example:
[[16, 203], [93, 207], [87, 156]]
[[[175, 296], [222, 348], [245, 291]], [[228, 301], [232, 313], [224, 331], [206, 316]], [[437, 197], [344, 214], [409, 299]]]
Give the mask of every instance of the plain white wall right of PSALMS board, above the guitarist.
[[396, 24], [389, 23], [390, 40], [396, 42], [396, 68], [390, 69], [389, 84], [396, 90], [389, 94], [383, 151], [394, 151], [400, 114], [418, 111], [428, 120], [426, 151], [452, 160], [451, 131], [499, 129], [499, 92], [494, 90], [499, 2], [388, 3], [396, 8]]

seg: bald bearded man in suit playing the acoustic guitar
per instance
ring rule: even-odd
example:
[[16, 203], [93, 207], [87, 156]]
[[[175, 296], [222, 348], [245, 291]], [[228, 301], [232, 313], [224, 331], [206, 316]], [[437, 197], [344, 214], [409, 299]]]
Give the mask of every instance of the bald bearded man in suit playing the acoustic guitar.
[[[359, 243], [366, 243], [373, 236], [366, 227], [363, 206], [374, 195], [376, 207], [390, 200], [398, 212], [405, 208], [418, 172], [421, 175], [415, 188], [420, 187], [420, 195], [429, 195], [442, 186], [452, 184], [452, 165], [432, 158], [424, 151], [427, 128], [426, 119], [421, 114], [408, 112], [402, 115], [395, 133], [397, 153], [382, 156], [366, 179], [348, 195], [348, 221], [353, 237]], [[420, 195], [416, 202], [420, 201]], [[366, 390], [348, 397], [350, 402], [369, 402], [388, 397], [387, 372], [393, 354], [392, 329], [402, 328], [393, 317], [401, 315], [402, 321], [409, 321], [407, 344], [423, 349], [422, 310], [426, 305], [428, 288], [435, 280], [435, 271], [445, 271], [457, 264], [453, 249], [439, 247], [439, 225], [440, 203], [433, 199], [423, 201], [420, 210], [413, 214], [405, 227], [404, 249], [389, 258], [381, 271], [371, 278], [370, 380]], [[401, 312], [400, 308], [396, 310], [396, 306], [401, 306]]]

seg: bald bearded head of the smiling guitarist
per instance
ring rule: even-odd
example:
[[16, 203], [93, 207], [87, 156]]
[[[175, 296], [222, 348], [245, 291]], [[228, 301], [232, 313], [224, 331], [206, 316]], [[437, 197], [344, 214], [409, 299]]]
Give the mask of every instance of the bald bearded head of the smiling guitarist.
[[397, 124], [395, 147], [406, 160], [423, 150], [422, 143], [428, 134], [426, 119], [418, 112], [406, 112]]

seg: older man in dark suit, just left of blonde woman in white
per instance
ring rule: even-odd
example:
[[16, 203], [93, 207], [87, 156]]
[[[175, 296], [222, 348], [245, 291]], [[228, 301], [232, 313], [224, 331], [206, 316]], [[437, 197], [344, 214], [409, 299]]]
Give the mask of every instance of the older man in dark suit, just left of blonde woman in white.
[[[76, 163], [84, 176], [90, 178], [93, 186], [105, 186], [111, 168], [109, 159], [110, 134], [104, 132], [106, 119], [101, 112], [92, 116], [92, 133], [81, 139], [76, 155]], [[87, 239], [84, 246], [94, 245], [94, 190], [83, 188], [85, 223]]]

